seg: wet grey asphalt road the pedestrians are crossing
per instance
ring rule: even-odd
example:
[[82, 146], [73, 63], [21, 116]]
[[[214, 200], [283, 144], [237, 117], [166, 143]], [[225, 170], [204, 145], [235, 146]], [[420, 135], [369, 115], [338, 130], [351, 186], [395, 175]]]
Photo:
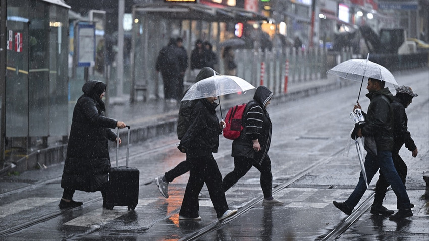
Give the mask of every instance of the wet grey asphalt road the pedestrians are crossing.
[[[404, 147], [401, 155], [408, 165], [407, 190], [416, 205], [414, 216], [400, 222], [362, 216], [341, 235], [330, 236], [348, 217], [332, 201], [344, 201], [357, 183], [360, 167], [354, 146], [348, 157], [344, 148], [353, 122], [349, 114], [359, 85], [269, 107], [273, 121], [270, 148], [273, 169], [273, 196], [285, 201], [280, 207], [263, 207], [259, 172], [252, 168], [226, 192], [236, 216], [219, 223], [211, 201], [200, 201], [201, 221], [178, 221], [188, 175], [169, 186], [170, 197], [160, 195], [153, 178], [174, 167], [185, 156], [177, 148], [175, 134], [130, 145], [130, 166], [140, 170], [139, 205], [135, 211], [101, 208], [99, 192], [76, 192], [74, 199], [84, 205], [60, 211], [60, 178], [63, 164], [26, 173], [51, 178], [47, 182], [0, 196], [0, 227], [7, 235], [1, 240], [429, 240], [429, 207], [422, 173], [429, 170], [429, 71], [395, 75], [398, 83], [410, 85], [419, 94], [407, 109], [408, 126], [419, 155], [412, 158]], [[365, 86], [365, 85], [364, 85]], [[392, 86], [388, 86], [392, 87]], [[392, 88], [391, 88], [392, 89]], [[367, 109], [369, 100], [360, 103]], [[251, 96], [249, 97], [251, 98]], [[233, 169], [231, 142], [223, 137], [215, 158], [223, 176]], [[125, 164], [125, 148], [120, 165]], [[112, 159], [115, 151], [111, 152]], [[57, 177], [57, 178], [56, 178]], [[377, 177], [377, 175], [376, 175]], [[374, 177], [374, 179], [376, 179]], [[25, 179], [25, 175], [21, 178]], [[42, 178], [40, 178], [42, 180]], [[372, 181], [357, 207], [371, 201]], [[396, 211], [392, 191], [385, 206]], [[357, 208], [358, 209], [358, 208]], [[9, 231], [8, 231], [9, 230]], [[16, 230], [16, 232], [13, 232]]]

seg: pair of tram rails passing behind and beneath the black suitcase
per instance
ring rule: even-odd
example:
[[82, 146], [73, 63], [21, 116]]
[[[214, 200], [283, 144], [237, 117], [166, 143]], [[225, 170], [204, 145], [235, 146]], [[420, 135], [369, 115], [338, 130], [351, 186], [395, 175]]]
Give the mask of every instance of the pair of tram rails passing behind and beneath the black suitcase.
[[[175, 143], [176, 142], [174, 142], [174, 143], [168, 143], [166, 145], [159, 146], [159, 147], [147, 150], [147, 151], [142, 151], [142, 152], [136, 153], [134, 155], [130, 155], [129, 158], [137, 158], [137, 157], [140, 157], [142, 155], [147, 155], [149, 153], [153, 153], [153, 152], [156, 152], [156, 151], [162, 151], [163, 149], [171, 147]], [[119, 160], [120, 161], [125, 161], [125, 159], [126, 158], [123, 157], [123, 158], [120, 158]], [[60, 179], [61, 179], [61, 176], [52, 177], [52, 178], [49, 178], [49, 179], [46, 179], [46, 180], [41, 180], [40, 182], [34, 183], [32, 185], [28, 185], [28, 186], [25, 186], [25, 187], [22, 187], [22, 188], [18, 188], [18, 189], [15, 189], [15, 190], [12, 190], [12, 191], [0, 194], [0, 198], [2, 198], [4, 196], [7, 196], [7, 195], [16, 194], [16, 193], [20, 193], [20, 192], [24, 192], [24, 191], [36, 189], [36, 188], [38, 188], [40, 186], [43, 186], [43, 185], [51, 183], [51, 182], [55, 182], [55, 181], [60, 180]], [[141, 182], [139, 184], [139, 187], [145, 186], [145, 185], [150, 184], [152, 182], [153, 182], [153, 178], [145, 179], [145, 180], [143, 180], [143, 182]], [[94, 198], [94, 199], [90, 199], [90, 200], [84, 202], [82, 206], [87, 206], [88, 204], [97, 202], [97, 201], [99, 201], [101, 199], [102, 199], [102, 197], [97, 197], [97, 198]], [[59, 210], [59, 211], [56, 211], [56, 212], [53, 212], [53, 213], [49, 213], [49, 214], [40, 216], [40, 217], [38, 217], [36, 219], [33, 219], [31, 221], [27, 221], [27, 222], [24, 222], [22, 224], [19, 224], [19, 225], [7, 228], [5, 230], [0, 230], [0, 237], [7, 236], [9, 234], [21, 231], [23, 229], [26, 229], [26, 228], [29, 228], [31, 226], [34, 226], [34, 225], [36, 225], [38, 223], [48, 221], [48, 220], [56, 218], [56, 217], [58, 217], [58, 216], [60, 216], [60, 215], [62, 215], [64, 213], [72, 212], [74, 209], [75, 208]]]

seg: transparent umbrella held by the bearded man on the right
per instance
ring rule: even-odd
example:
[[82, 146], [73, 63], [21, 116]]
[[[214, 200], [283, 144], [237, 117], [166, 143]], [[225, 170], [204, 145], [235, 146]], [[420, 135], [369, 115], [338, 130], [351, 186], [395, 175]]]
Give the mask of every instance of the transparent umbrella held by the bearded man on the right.
[[334, 66], [326, 72], [346, 80], [361, 82], [356, 102], [359, 102], [360, 91], [365, 77], [383, 80], [396, 86], [399, 85], [388, 69], [382, 65], [369, 61], [368, 58], [369, 54], [366, 59], [349, 59], [348, 61], [344, 61], [343, 63]]

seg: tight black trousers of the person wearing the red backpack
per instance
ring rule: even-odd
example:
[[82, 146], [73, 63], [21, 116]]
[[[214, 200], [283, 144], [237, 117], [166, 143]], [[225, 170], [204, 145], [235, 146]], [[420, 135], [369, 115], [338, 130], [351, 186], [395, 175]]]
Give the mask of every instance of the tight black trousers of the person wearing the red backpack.
[[243, 177], [252, 166], [260, 172], [260, 186], [262, 188], [263, 197], [269, 198], [272, 196], [273, 190], [273, 175], [271, 174], [271, 160], [270, 157], [266, 156], [259, 165], [254, 159], [246, 158], [242, 156], [234, 157], [234, 170], [228, 173], [222, 180], [222, 186], [226, 192], [230, 189], [237, 181]]

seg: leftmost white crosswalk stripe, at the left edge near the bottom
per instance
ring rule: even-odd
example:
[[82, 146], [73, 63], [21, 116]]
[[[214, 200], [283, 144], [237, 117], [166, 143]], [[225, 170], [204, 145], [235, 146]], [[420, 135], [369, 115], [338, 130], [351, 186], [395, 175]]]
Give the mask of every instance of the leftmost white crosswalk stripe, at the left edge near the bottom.
[[60, 199], [59, 198], [38, 198], [38, 197], [20, 199], [12, 203], [2, 205], [2, 212], [0, 212], [0, 218], [6, 217], [8, 215], [18, 213], [21, 211], [33, 209], [52, 202], [60, 202]]

